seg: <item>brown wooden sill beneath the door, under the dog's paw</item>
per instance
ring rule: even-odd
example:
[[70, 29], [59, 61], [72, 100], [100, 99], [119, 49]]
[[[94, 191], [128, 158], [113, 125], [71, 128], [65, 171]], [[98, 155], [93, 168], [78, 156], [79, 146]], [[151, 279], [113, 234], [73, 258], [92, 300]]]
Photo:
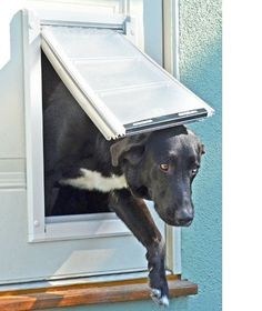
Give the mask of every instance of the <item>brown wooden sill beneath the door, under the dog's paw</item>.
[[[198, 285], [178, 275], [169, 275], [170, 297], [198, 293]], [[150, 290], [147, 279], [92, 284], [74, 284], [48, 289], [19, 290], [0, 293], [1, 311], [40, 310], [95, 303], [147, 300]]]

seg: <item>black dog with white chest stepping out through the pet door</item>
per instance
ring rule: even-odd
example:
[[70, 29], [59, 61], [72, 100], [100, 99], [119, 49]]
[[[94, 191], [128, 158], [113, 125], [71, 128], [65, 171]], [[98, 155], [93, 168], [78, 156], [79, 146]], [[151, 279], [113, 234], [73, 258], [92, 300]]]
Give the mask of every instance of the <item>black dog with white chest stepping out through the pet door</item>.
[[182, 126], [107, 141], [44, 56], [42, 62], [46, 214], [58, 183], [108, 193], [110, 208], [147, 249], [153, 300], [167, 305], [164, 241], [143, 199], [154, 201], [164, 222], [190, 225], [202, 143]]

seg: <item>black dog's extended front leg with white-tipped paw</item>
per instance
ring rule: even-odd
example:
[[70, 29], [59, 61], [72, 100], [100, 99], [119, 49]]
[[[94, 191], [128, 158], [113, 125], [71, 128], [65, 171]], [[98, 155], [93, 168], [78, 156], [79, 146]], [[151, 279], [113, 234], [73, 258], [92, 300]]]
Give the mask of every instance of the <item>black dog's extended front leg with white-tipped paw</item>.
[[145, 247], [151, 297], [157, 303], [168, 305], [169, 288], [164, 269], [164, 241], [148, 207], [143, 200], [134, 198], [130, 191], [120, 190], [111, 193], [110, 208]]

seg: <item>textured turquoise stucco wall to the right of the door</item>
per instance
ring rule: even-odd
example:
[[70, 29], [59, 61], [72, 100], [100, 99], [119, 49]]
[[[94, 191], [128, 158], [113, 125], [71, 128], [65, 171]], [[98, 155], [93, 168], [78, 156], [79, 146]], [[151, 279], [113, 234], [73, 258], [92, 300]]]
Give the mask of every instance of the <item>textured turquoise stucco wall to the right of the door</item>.
[[[155, 32], [161, 17], [161, 1], [144, 1], [145, 22], [151, 39], [145, 49], [161, 62], [161, 39]], [[151, 7], [150, 7], [151, 6]], [[152, 18], [153, 17], [153, 18]], [[150, 30], [147, 30], [150, 32]], [[145, 32], [147, 36], [147, 32]], [[199, 284], [199, 294], [173, 299], [170, 310], [221, 310], [221, 0], [180, 0], [180, 74], [181, 81], [215, 109], [215, 117], [190, 126], [205, 144], [199, 177], [194, 181], [195, 219], [182, 230], [183, 277]], [[69, 309], [67, 309], [69, 310]], [[73, 308], [90, 311], [160, 310], [150, 300]]]

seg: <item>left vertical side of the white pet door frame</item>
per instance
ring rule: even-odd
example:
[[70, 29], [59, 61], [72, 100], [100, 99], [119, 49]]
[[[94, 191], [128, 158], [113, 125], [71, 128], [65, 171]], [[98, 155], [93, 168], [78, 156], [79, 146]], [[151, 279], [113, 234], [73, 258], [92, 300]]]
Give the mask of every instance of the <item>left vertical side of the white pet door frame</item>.
[[28, 230], [29, 240], [33, 240], [44, 234], [44, 191], [40, 24], [30, 11], [23, 10], [22, 28]]

